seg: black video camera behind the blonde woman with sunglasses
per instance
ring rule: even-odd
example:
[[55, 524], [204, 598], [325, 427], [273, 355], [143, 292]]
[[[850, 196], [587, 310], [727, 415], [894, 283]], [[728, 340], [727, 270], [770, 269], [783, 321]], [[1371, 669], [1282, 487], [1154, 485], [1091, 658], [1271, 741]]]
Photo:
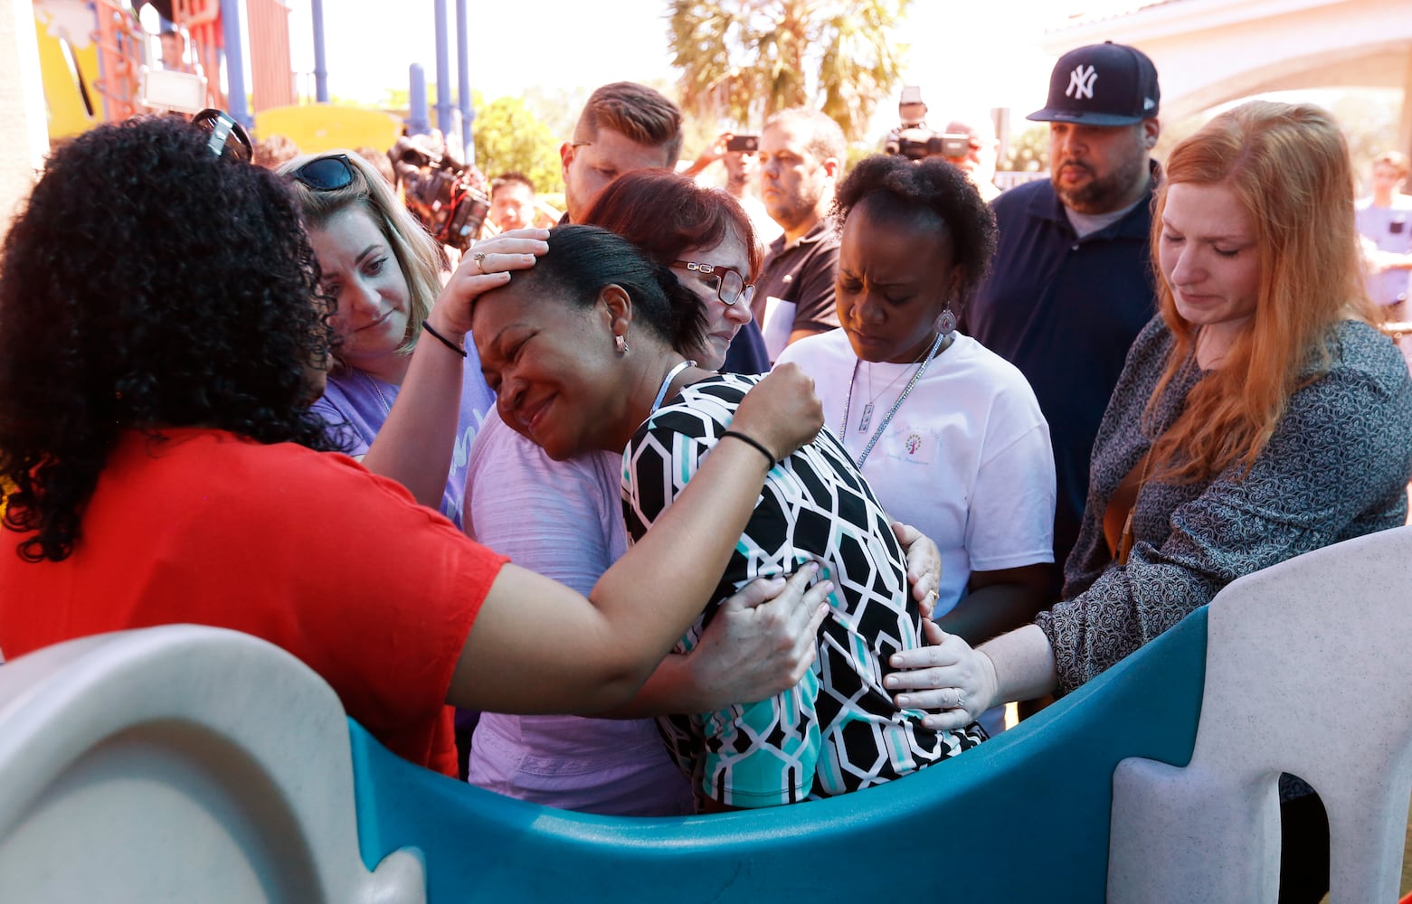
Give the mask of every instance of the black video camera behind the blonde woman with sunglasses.
[[425, 135], [397, 140], [388, 152], [405, 186], [407, 209], [436, 241], [465, 251], [490, 213], [486, 178]]

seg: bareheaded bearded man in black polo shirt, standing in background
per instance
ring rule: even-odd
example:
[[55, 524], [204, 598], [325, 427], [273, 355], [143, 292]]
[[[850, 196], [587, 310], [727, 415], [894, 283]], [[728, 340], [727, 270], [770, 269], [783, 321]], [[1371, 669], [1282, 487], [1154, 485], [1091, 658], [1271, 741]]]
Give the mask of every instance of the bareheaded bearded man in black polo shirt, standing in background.
[[760, 133], [760, 199], [785, 231], [770, 245], [751, 303], [771, 362], [796, 338], [839, 326], [839, 236], [829, 209], [846, 158], [843, 130], [819, 110], [779, 110]]

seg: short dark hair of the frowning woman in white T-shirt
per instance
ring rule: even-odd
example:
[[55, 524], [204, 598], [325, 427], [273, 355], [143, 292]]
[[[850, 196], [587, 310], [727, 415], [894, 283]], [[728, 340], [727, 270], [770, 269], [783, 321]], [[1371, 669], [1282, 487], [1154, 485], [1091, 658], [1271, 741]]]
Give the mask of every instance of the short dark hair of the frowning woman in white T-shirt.
[[964, 172], [938, 157], [914, 162], [874, 154], [856, 164], [833, 195], [839, 230], [864, 199], [868, 214], [881, 221], [911, 220], [919, 213], [933, 216], [962, 269], [957, 300], [970, 298], [995, 254], [995, 214]]

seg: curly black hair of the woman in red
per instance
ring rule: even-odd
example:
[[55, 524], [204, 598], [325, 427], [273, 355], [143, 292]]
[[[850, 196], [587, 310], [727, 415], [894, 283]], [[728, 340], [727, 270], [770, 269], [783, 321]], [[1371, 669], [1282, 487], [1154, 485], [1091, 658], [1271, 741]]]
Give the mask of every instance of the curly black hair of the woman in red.
[[73, 551], [123, 430], [333, 444], [309, 410], [333, 333], [298, 207], [206, 142], [176, 117], [99, 126], [0, 250], [0, 484], [28, 561]]

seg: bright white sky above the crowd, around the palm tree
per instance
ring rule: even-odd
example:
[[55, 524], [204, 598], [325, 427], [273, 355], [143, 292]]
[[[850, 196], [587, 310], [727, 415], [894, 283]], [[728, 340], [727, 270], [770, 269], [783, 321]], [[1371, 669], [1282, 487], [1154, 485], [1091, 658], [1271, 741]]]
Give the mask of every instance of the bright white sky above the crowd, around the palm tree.
[[[294, 69], [312, 72], [309, 0], [287, 0]], [[1080, 0], [1082, 3], [1082, 0]], [[1113, 7], [1123, 0], [1089, 0]], [[1135, 6], [1132, 0], [1123, 3]], [[901, 34], [911, 45], [902, 85], [921, 85], [931, 118], [950, 110], [1014, 107], [1015, 118], [1043, 106], [1053, 55], [1039, 44], [1046, 27], [1063, 23], [1067, 3], [1053, 0], [914, 0]], [[470, 82], [484, 100], [527, 87], [582, 90], [616, 80], [675, 80], [666, 51], [668, 0], [472, 0]], [[407, 87], [408, 66], [436, 78], [433, 4], [414, 0], [325, 0], [329, 92], [377, 103], [384, 89]], [[510, 10], [507, 13], [507, 10]], [[450, 79], [456, 80], [456, 4], [448, 0]], [[313, 92], [301, 76], [301, 92]], [[940, 116], [939, 116], [940, 114]], [[882, 120], [895, 106], [880, 104]], [[887, 128], [887, 126], [884, 126]]]

